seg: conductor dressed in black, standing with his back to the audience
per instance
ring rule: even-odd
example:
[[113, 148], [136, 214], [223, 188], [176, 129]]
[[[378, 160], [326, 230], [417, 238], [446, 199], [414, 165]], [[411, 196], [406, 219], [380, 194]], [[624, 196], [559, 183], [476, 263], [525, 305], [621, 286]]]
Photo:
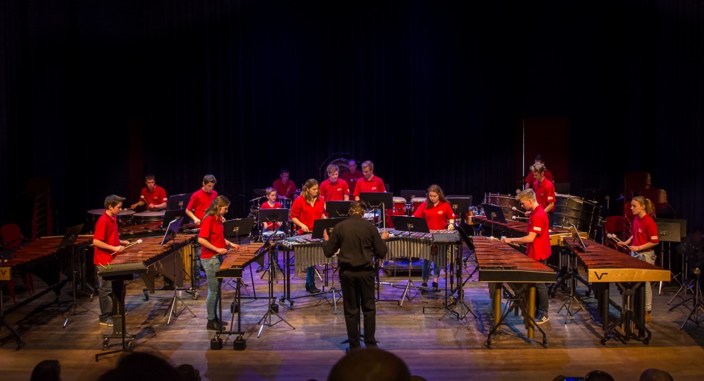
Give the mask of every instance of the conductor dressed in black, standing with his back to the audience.
[[377, 227], [363, 218], [365, 207], [360, 201], [353, 201], [350, 217], [335, 225], [330, 236], [323, 232], [325, 246], [323, 252], [328, 258], [337, 254], [339, 265], [342, 304], [344, 305], [345, 325], [350, 349], [361, 347], [359, 338], [359, 310], [364, 314], [364, 343], [376, 347], [376, 313], [374, 299], [374, 257], [386, 256], [389, 233], [379, 236]]

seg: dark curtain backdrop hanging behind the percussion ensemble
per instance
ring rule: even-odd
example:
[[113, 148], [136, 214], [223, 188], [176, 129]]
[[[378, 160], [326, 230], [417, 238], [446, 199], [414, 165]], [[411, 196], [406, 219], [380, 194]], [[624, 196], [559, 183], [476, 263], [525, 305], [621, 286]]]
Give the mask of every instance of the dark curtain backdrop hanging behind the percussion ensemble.
[[522, 182], [523, 118], [567, 120], [547, 160], [573, 194], [619, 213], [647, 171], [704, 222], [700, 1], [6, 0], [0, 25], [1, 223], [32, 176], [63, 230], [144, 173], [169, 194], [213, 173], [241, 217], [282, 166], [300, 187], [343, 152], [396, 194], [477, 200]]

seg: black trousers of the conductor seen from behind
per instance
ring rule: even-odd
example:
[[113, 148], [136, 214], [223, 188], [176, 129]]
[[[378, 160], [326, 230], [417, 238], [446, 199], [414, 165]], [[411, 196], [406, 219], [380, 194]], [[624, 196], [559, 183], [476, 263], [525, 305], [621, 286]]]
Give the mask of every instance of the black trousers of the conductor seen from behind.
[[340, 287], [344, 306], [345, 325], [350, 348], [361, 346], [359, 339], [359, 310], [364, 314], [364, 342], [376, 345], [374, 337], [377, 324], [377, 306], [374, 299], [374, 277], [372, 269], [340, 270]]

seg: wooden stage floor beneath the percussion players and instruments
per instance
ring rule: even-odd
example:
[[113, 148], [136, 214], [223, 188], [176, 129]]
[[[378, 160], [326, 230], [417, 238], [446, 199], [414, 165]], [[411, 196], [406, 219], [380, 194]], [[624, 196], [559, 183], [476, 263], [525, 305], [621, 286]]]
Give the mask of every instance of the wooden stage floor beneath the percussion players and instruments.
[[[249, 271], [245, 274], [249, 282]], [[294, 296], [306, 294], [303, 279], [301, 275], [293, 278]], [[418, 277], [413, 280], [420, 285]], [[399, 275], [394, 280], [383, 276], [382, 282], [405, 284], [406, 278]], [[255, 285], [258, 296], [267, 294], [265, 280], [255, 277]], [[266, 300], [246, 301], [243, 306], [246, 350], [234, 351], [234, 337], [230, 337], [222, 350], [213, 351], [210, 350], [212, 331], [206, 330], [204, 284], [197, 300], [180, 292], [196, 317], [185, 311], [168, 326], [164, 313], [172, 292], [157, 292], [145, 301], [142, 287], [141, 280], [130, 282], [127, 287], [130, 311], [127, 332], [137, 335], [135, 351], [161, 354], [174, 365], [191, 363], [200, 370], [203, 380], [325, 380], [332, 365], [344, 356], [346, 344], [341, 341], [346, 339], [346, 333], [341, 304], [335, 314], [330, 304], [320, 302], [322, 296], [298, 299], [293, 310], [279, 308], [280, 315], [295, 329], [279, 323], [264, 327], [260, 338], [257, 338], [257, 322], [266, 311]], [[251, 295], [251, 287], [248, 289], [246, 294]], [[281, 296], [282, 289], [282, 283], [275, 285], [275, 295]], [[476, 319], [470, 315], [457, 320], [451, 315], [443, 316], [442, 310], [423, 313], [423, 306], [442, 305], [442, 292], [429, 292], [425, 294], [427, 301], [416, 297], [401, 307], [396, 302], [379, 301], [379, 347], [403, 358], [413, 375], [427, 380], [552, 380], [556, 375], [584, 377], [595, 369], [605, 370], [616, 380], [637, 380], [646, 368], [667, 370], [675, 380], [704, 379], [704, 326], [690, 322], [684, 325], [684, 330], [679, 329], [689, 309], [681, 306], [668, 311], [667, 301], [673, 292], [662, 295], [658, 295], [657, 289], [653, 292], [653, 321], [648, 324], [653, 332], [650, 344], [610, 340], [604, 346], [600, 344], [601, 325], [591, 319], [596, 316], [596, 301], [584, 295], [583, 286], [579, 287], [579, 297], [589, 312], [580, 311], [567, 319], [564, 311], [557, 313], [567, 293], [558, 291], [551, 299], [550, 321], [541, 326], [548, 334], [547, 349], [524, 339], [525, 331], [517, 317], [510, 318], [510, 324], [503, 327], [509, 334], [488, 349], [486, 334], [492, 318], [487, 285], [470, 281], [465, 292]], [[402, 293], [402, 288], [382, 285], [382, 299], [398, 300]], [[224, 313], [225, 319], [230, 318], [233, 294], [230, 287], [225, 288], [223, 308], [228, 311]], [[612, 297], [617, 295], [612, 286]], [[4, 337], [0, 342], [3, 380], [28, 380], [34, 365], [47, 358], [61, 361], [63, 380], [95, 380], [115, 365], [117, 356], [94, 360], [94, 354], [102, 351], [101, 334], [111, 332], [98, 324], [97, 299], [82, 300], [78, 311], [85, 312], [76, 316], [68, 316], [66, 312], [71, 300], [70, 287], [64, 287], [61, 303], [53, 300], [53, 294], [46, 295], [8, 316], [8, 321], [23, 332], [25, 346], [16, 351], [8, 331], [0, 332]], [[70, 320], [63, 328], [67, 316]], [[540, 339], [539, 335], [536, 338]], [[111, 349], [117, 347], [116, 340], [111, 342]]]

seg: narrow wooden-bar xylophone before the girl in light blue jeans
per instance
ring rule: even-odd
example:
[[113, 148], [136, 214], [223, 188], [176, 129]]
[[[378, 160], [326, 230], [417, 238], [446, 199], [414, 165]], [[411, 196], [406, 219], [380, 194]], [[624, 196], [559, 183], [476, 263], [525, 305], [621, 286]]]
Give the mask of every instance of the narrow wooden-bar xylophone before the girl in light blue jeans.
[[[234, 301], [232, 304], [232, 312], [237, 312], [237, 331], [225, 331], [222, 330], [222, 327], [220, 327], [221, 330], [215, 332], [215, 337], [213, 338], [213, 341], [220, 342], [221, 347], [222, 339], [220, 339], [220, 335], [222, 334], [240, 335], [240, 337], [237, 338], [237, 341], [244, 342], [244, 339], [241, 338], [241, 335], [244, 334], [244, 331], [242, 331], [241, 329], [242, 273], [244, 273], [244, 268], [250, 266], [260, 256], [263, 256], [267, 252], [267, 250], [270, 249], [270, 247], [271, 245], [268, 242], [252, 242], [250, 244], [240, 245], [239, 249], [230, 250], [227, 252], [227, 255], [225, 255], [225, 258], [222, 259], [222, 263], [220, 264], [220, 270], [215, 273], [215, 276], [218, 277], [218, 300], [220, 309], [220, 319], [222, 319], [222, 280], [224, 278], [234, 278], [237, 282], [234, 291]], [[230, 327], [232, 327], [232, 323], [234, 323], [234, 314], [232, 315]]]

